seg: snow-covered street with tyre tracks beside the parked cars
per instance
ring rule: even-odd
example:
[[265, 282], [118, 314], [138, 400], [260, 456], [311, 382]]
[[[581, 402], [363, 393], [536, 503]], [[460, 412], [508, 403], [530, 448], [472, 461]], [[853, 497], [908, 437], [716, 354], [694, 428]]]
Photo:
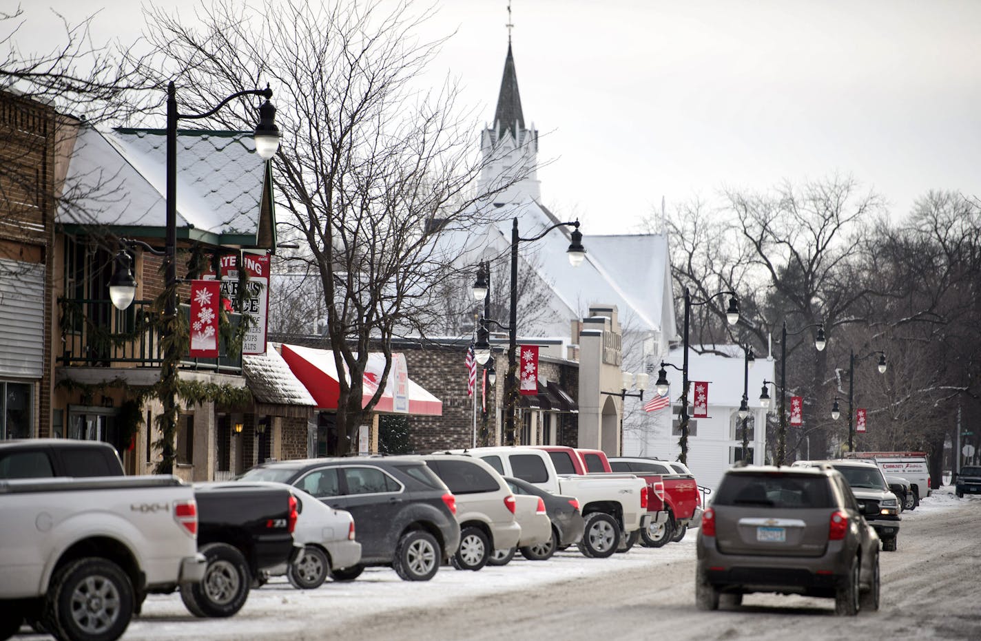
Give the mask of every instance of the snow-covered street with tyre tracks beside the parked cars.
[[312, 591], [276, 578], [227, 619], [197, 619], [178, 595], [151, 595], [123, 638], [978, 639], [979, 531], [981, 497], [957, 500], [947, 487], [905, 512], [898, 552], [880, 557], [881, 610], [855, 618], [835, 616], [830, 599], [766, 594], [737, 610], [697, 612], [690, 530], [680, 543], [607, 560], [572, 550], [541, 563], [518, 555], [479, 572], [442, 567], [422, 583], [388, 568]]

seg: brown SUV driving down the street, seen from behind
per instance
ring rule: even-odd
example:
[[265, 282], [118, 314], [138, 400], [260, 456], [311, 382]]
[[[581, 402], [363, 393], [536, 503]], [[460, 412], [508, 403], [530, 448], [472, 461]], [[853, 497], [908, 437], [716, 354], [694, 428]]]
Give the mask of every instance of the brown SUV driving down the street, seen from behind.
[[729, 468], [701, 518], [696, 605], [752, 592], [835, 599], [839, 615], [879, 608], [879, 537], [829, 465]]

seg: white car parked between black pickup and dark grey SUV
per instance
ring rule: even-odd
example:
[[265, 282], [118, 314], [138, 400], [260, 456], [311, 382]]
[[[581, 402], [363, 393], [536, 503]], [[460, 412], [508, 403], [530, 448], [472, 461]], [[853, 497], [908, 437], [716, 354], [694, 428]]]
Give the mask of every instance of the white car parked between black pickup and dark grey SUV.
[[290, 564], [270, 567], [262, 572], [262, 582], [270, 576], [286, 575], [298, 590], [313, 590], [327, 580], [332, 571], [342, 571], [361, 561], [361, 544], [355, 540], [354, 518], [349, 512], [324, 505], [298, 487], [263, 482], [288, 488], [299, 504], [293, 542], [303, 550]]

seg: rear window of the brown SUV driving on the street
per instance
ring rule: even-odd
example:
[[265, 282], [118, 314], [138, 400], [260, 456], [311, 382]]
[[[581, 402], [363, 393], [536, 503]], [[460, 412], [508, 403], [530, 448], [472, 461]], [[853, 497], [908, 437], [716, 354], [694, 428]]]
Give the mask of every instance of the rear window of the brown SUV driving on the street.
[[828, 485], [826, 476], [816, 474], [727, 474], [712, 504], [781, 509], [830, 508]]

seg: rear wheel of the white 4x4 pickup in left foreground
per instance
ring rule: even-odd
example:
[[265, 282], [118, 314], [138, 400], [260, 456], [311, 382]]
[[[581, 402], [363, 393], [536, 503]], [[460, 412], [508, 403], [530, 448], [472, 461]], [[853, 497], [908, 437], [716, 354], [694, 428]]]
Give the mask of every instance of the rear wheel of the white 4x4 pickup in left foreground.
[[42, 623], [57, 639], [112, 641], [129, 626], [134, 600], [121, 567], [107, 559], [79, 559], [52, 579]]

